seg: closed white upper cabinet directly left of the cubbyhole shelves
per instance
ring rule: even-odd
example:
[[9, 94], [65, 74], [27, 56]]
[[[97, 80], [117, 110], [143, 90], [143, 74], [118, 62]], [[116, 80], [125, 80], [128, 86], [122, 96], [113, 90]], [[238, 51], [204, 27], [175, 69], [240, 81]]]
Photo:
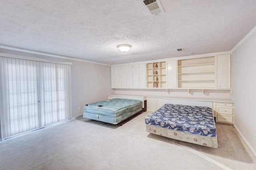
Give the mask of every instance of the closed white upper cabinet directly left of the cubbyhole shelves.
[[132, 65], [133, 88], [146, 87], [145, 63]]

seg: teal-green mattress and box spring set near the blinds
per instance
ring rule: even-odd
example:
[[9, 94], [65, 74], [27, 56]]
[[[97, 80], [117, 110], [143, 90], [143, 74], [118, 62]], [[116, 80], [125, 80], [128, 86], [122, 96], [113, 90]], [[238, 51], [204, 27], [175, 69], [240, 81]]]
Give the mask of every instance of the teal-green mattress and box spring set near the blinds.
[[142, 112], [142, 101], [116, 98], [85, 105], [83, 117], [118, 124], [138, 112]]

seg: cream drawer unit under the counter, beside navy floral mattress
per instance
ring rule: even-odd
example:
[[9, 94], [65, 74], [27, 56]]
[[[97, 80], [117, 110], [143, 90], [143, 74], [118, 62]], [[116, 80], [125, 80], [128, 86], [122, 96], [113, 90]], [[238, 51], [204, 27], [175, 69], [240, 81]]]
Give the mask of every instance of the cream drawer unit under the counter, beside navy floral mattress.
[[234, 124], [234, 103], [216, 103], [216, 122]]

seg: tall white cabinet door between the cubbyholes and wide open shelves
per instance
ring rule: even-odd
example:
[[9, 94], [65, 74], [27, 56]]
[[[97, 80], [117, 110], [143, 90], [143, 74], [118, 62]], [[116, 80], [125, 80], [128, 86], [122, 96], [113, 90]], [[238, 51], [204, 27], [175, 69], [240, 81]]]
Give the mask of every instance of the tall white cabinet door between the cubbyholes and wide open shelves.
[[177, 88], [177, 60], [167, 61], [167, 87]]

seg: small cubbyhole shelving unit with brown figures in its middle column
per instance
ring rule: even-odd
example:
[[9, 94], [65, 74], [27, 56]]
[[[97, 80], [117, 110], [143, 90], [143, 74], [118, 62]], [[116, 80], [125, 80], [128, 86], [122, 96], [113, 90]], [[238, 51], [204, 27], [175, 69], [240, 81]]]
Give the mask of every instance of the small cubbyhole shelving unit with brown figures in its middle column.
[[166, 88], [166, 61], [146, 63], [147, 88]]

